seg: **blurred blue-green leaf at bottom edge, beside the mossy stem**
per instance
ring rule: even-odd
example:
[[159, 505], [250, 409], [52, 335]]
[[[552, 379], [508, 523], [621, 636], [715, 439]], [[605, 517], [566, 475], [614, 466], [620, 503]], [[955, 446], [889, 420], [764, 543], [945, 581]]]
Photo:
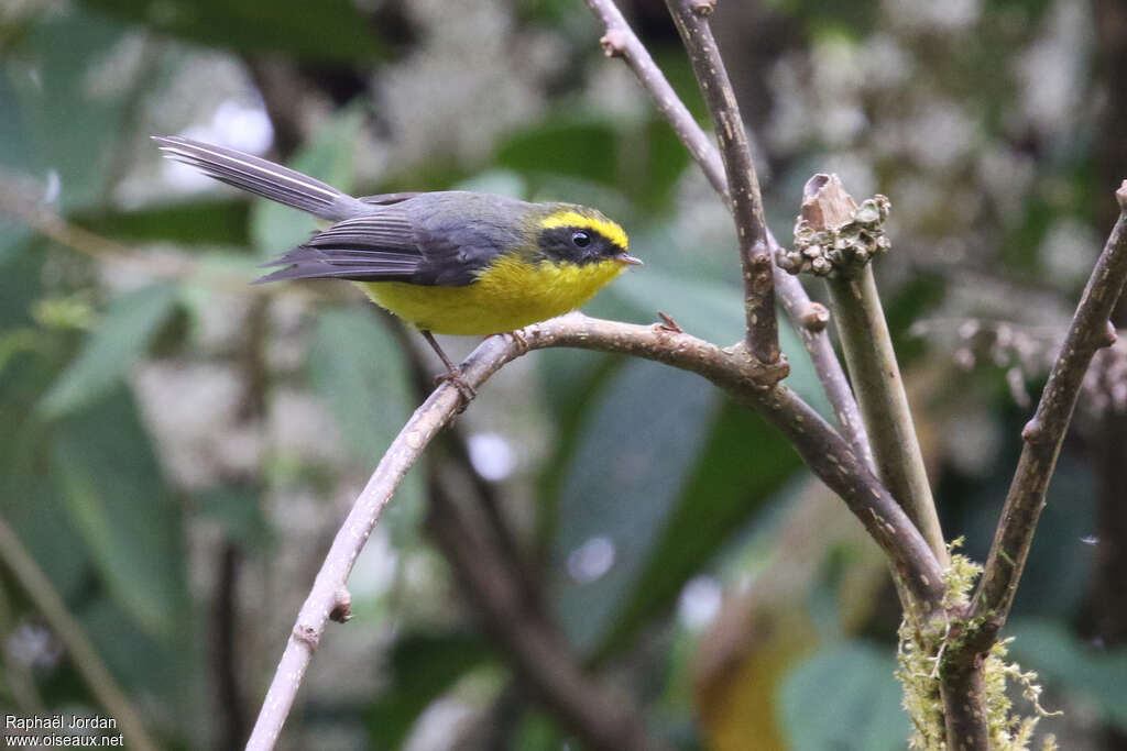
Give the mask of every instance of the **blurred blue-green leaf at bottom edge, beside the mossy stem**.
[[900, 710], [890, 650], [846, 642], [816, 653], [783, 682], [781, 725], [792, 749], [903, 749], [911, 732]]

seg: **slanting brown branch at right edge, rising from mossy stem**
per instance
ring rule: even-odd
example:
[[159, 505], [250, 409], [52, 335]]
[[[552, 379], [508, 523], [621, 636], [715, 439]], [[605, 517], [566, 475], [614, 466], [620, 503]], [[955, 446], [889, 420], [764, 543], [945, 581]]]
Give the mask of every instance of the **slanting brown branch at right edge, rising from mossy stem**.
[[1127, 180], [1116, 191], [1116, 199], [1119, 220], [1084, 287], [1037, 412], [1021, 431], [1021, 458], [971, 604], [976, 616], [988, 618], [996, 627], [1013, 605], [1084, 373], [1095, 351], [1115, 341], [1108, 319], [1127, 279]]

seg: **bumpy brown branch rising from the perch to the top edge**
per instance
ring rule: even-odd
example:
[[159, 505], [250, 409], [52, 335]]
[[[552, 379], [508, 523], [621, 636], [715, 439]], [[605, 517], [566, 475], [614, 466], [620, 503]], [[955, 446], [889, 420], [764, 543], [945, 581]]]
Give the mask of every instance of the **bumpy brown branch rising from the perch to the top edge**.
[[731, 213], [736, 221], [744, 275], [747, 346], [761, 361], [774, 363], [779, 359], [779, 327], [775, 321], [772, 271], [774, 263], [771, 261], [763, 197], [747, 145], [744, 119], [739, 115], [739, 105], [736, 104], [728, 71], [708, 23], [716, 0], [666, 0], [666, 5], [704, 95], [720, 145], [724, 170], [728, 176], [728, 193], [731, 196]]

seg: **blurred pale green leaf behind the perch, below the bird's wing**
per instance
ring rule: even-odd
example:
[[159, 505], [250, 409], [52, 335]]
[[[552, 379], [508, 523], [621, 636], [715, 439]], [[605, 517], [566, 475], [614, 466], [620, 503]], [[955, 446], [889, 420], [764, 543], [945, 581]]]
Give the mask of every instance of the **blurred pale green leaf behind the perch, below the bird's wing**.
[[[374, 468], [411, 414], [414, 392], [399, 342], [372, 309], [321, 313], [313, 337], [310, 377], [340, 426], [352, 455]], [[389, 520], [415, 528], [423, 486], [411, 472], [396, 492]]]

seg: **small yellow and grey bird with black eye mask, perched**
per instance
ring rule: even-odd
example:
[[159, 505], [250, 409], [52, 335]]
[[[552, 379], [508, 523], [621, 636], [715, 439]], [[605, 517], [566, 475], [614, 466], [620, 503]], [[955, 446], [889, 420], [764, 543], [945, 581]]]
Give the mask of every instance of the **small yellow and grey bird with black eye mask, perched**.
[[347, 279], [423, 334], [464, 403], [474, 396], [434, 334], [490, 336], [576, 310], [630, 266], [621, 225], [569, 203], [440, 190], [353, 197], [252, 154], [152, 136], [162, 154], [331, 222], [255, 284]]

